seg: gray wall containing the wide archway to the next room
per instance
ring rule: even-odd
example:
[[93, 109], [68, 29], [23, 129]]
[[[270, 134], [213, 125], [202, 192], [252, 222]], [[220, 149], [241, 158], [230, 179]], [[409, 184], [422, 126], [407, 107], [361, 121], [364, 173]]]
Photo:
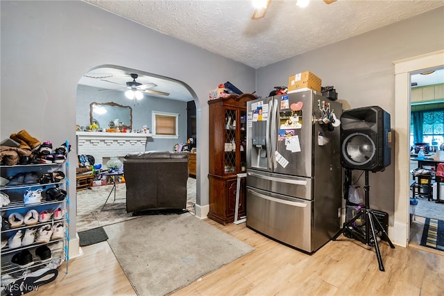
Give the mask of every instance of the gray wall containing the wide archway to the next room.
[[[175, 78], [195, 96], [197, 202], [208, 204], [208, 92], [228, 80], [255, 89], [255, 69], [81, 1], [0, 1], [0, 9], [1, 140], [26, 129], [42, 141], [76, 143], [77, 85], [94, 67], [114, 64]], [[71, 159], [76, 154], [71, 151]], [[70, 166], [71, 184], [74, 176]], [[74, 186], [69, 193], [75, 213]], [[75, 225], [71, 216], [70, 234]]]

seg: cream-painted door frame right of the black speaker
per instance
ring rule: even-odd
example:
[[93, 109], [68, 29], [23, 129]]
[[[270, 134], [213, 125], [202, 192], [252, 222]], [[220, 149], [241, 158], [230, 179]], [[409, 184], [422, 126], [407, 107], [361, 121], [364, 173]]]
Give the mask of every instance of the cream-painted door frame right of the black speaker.
[[444, 65], [444, 50], [393, 62], [395, 65], [395, 214], [393, 243], [409, 244], [409, 163], [411, 72]]

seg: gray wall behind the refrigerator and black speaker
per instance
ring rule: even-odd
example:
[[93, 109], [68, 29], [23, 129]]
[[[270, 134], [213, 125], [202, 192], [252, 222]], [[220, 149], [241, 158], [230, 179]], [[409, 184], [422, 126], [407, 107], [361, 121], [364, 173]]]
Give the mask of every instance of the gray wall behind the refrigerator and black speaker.
[[[257, 69], [257, 94], [267, 96], [273, 86], [287, 85], [290, 75], [311, 71], [322, 85], [334, 85], [344, 110], [379, 105], [395, 121], [395, 67], [392, 62], [444, 49], [444, 7], [379, 28], [357, 37]], [[444, 61], [443, 61], [444, 64]], [[395, 132], [393, 132], [393, 135]], [[395, 211], [395, 143], [391, 166], [371, 173], [370, 204]], [[353, 180], [361, 171], [353, 172]], [[364, 176], [358, 184], [364, 183]]]

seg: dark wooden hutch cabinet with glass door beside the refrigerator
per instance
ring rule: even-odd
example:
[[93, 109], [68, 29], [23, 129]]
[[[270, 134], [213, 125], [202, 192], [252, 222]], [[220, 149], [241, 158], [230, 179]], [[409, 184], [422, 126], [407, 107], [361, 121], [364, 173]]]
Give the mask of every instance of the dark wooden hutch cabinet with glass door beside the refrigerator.
[[[210, 105], [208, 218], [225, 225], [234, 221], [237, 174], [246, 172], [246, 102], [252, 94], [230, 95]], [[246, 215], [246, 182], [241, 179], [239, 216]]]

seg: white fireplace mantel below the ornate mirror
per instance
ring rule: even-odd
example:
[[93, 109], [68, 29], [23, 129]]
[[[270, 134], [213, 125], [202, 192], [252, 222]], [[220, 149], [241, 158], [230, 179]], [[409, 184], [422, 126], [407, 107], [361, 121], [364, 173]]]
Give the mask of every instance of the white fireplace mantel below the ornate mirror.
[[129, 153], [144, 152], [146, 139], [151, 134], [135, 132], [76, 132], [79, 155], [92, 155], [96, 163], [103, 157], [123, 157]]

